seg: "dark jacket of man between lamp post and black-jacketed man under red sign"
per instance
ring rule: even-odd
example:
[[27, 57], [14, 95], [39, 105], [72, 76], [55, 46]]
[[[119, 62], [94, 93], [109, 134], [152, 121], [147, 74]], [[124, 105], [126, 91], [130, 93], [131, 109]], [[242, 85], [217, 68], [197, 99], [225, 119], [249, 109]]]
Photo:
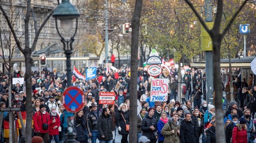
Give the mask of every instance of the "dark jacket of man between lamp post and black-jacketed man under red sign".
[[97, 112], [97, 116], [94, 115], [94, 113], [91, 111], [87, 114], [87, 132], [88, 134], [91, 133], [91, 131], [97, 131], [97, 121], [100, 118], [101, 112], [96, 111]]

